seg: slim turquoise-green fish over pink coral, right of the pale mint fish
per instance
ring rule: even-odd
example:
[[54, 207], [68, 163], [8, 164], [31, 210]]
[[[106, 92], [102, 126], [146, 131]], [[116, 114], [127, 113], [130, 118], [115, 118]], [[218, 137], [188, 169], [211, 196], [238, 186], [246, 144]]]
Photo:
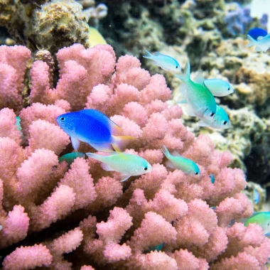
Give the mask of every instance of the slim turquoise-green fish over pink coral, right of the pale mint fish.
[[168, 151], [166, 146], [163, 146], [161, 151], [163, 151], [166, 158], [168, 158], [168, 161], [166, 161], [166, 166], [169, 168], [177, 168], [178, 170], [181, 170], [189, 175], [200, 175], [200, 168], [194, 161], [180, 156], [180, 154], [177, 152], [174, 152], [175, 156], [173, 156]]

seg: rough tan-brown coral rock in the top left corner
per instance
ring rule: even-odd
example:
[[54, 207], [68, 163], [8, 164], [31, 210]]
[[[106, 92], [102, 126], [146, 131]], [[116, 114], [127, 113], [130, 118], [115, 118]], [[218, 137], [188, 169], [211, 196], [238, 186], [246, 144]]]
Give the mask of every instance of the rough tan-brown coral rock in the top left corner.
[[[32, 50], [56, 53], [63, 46], [82, 43], [88, 47], [88, 22], [97, 26], [107, 16], [107, 6], [90, 1], [87, 9], [75, 0], [0, 1], [0, 26], [11, 38]], [[85, 3], [82, 3], [85, 4]]]

